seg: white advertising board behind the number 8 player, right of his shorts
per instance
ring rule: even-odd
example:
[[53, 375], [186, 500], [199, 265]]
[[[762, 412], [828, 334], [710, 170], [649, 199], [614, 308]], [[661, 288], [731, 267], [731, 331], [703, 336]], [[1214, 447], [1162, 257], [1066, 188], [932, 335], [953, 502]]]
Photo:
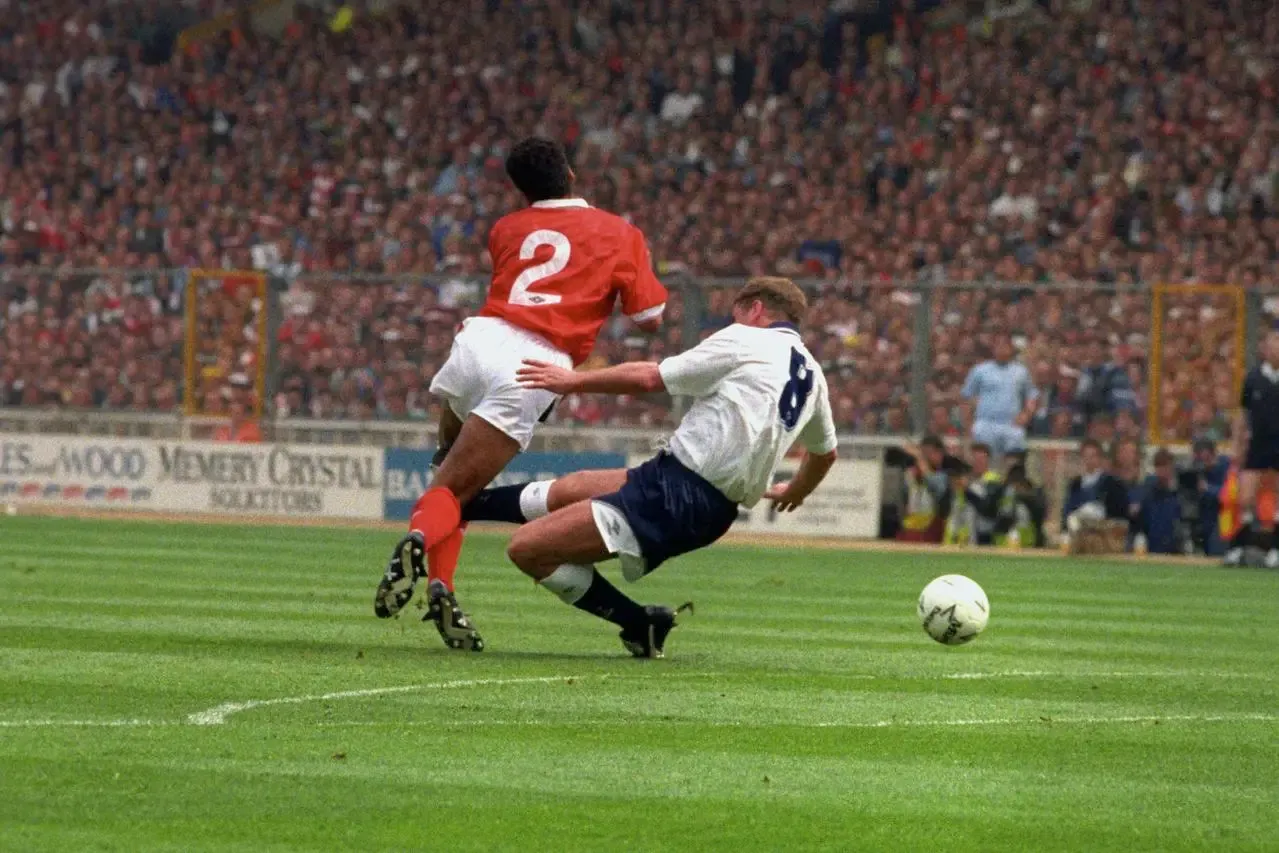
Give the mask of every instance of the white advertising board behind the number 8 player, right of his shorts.
[[[646, 458], [632, 457], [631, 464], [637, 466]], [[798, 459], [785, 459], [778, 467], [774, 482], [790, 480], [798, 464]], [[771, 536], [875, 538], [879, 536], [883, 480], [879, 460], [840, 459], [817, 491], [796, 512], [778, 513], [770, 501], [761, 500], [751, 509], [743, 506], [738, 510], [733, 529]]]

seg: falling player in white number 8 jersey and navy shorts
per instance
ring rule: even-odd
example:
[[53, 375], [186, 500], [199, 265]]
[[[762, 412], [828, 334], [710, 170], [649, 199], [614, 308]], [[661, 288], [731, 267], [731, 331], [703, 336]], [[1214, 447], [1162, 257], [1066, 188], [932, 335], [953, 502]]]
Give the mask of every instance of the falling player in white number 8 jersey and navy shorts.
[[[677, 611], [637, 604], [595, 564], [616, 556], [623, 575], [638, 581], [721, 537], [738, 504], [769, 497], [788, 512], [817, 487], [835, 462], [836, 441], [826, 377], [799, 338], [806, 311], [803, 292], [789, 279], [760, 278], [738, 293], [733, 325], [661, 363], [574, 372], [526, 361], [523, 385], [555, 394], [665, 390], [696, 399], [666, 450], [629, 471], [579, 477], [590, 487], [578, 496], [591, 500], [522, 527], [508, 547], [510, 560], [564, 602], [619, 625], [636, 657], [661, 657]], [[804, 449], [799, 469], [774, 486], [796, 442]], [[544, 508], [547, 491], [540, 491]], [[528, 496], [519, 503], [523, 518], [540, 514]]]

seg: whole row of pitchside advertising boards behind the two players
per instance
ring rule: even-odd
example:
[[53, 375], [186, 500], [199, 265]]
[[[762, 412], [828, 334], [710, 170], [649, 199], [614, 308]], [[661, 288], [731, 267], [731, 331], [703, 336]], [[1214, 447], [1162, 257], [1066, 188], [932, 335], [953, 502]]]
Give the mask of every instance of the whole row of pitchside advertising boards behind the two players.
[[[231, 518], [404, 520], [426, 489], [432, 449], [320, 444], [115, 439], [0, 434], [0, 501], [68, 510], [220, 514]], [[499, 483], [620, 468], [642, 454], [532, 451]], [[778, 476], [792, 474], [783, 467]], [[761, 503], [738, 532], [773, 537], [874, 538], [883, 471], [836, 463], [797, 513]]]

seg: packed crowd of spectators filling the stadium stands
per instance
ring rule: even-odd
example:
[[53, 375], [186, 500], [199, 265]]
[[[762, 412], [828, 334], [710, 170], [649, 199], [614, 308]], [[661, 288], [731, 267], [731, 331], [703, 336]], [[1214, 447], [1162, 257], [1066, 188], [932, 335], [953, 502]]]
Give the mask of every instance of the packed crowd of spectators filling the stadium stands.
[[[1041, 389], [1031, 434], [1109, 439], [1151, 396], [1133, 285], [1257, 289], [1279, 256], [1266, 0], [1023, 1], [976, 24], [927, 0], [297, 4], [278, 36], [230, 27], [171, 56], [155, 4], [0, 6], [0, 404], [173, 409], [169, 270], [255, 269], [284, 308], [267, 411], [428, 417], [489, 226], [521, 203], [503, 155], [526, 133], [565, 141], [582, 194], [641, 226], [668, 280], [813, 280], [811, 347], [861, 434], [911, 427], [918, 285], [946, 283], [923, 426], [962, 428], [964, 375], [1007, 330]], [[661, 336], [619, 321], [595, 359], [689, 344], [673, 290]], [[702, 333], [729, 292], [706, 292]], [[1164, 434], [1221, 437], [1238, 307], [1192, 289], [1164, 317]], [[243, 358], [244, 330], [217, 327], [212, 352]], [[249, 402], [231, 367], [206, 411]], [[1101, 367], [1132, 394], [1082, 393]]]

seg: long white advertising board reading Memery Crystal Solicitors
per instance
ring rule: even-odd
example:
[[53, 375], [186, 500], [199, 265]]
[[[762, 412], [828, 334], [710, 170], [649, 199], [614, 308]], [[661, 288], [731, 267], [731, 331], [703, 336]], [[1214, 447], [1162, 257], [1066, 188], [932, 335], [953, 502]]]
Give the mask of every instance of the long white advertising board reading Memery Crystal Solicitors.
[[0, 501], [381, 518], [382, 449], [0, 436]]

